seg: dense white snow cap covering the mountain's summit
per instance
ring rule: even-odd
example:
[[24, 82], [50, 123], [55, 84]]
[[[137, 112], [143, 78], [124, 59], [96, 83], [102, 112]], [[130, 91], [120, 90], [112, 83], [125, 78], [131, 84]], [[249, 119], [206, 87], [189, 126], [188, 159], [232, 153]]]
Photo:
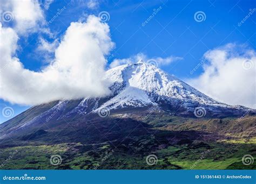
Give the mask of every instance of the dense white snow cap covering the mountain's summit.
[[96, 112], [103, 108], [111, 110], [157, 105], [160, 101], [227, 106], [142, 61], [112, 68], [106, 72], [106, 79], [112, 82], [110, 89], [113, 97], [97, 108]]

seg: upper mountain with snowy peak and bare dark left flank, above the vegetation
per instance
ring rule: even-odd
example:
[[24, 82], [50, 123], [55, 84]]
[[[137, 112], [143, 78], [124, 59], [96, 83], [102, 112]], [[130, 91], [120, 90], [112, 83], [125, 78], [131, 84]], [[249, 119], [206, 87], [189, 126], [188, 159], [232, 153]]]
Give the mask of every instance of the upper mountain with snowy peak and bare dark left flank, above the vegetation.
[[29, 126], [62, 118], [70, 121], [84, 115], [108, 115], [110, 111], [111, 114], [117, 111], [137, 114], [153, 107], [154, 110], [187, 117], [195, 117], [196, 108], [199, 108], [200, 116], [204, 117], [255, 114], [255, 110], [249, 108], [217, 102], [177, 77], [143, 61], [107, 70], [106, 79], [110, 82], [110, 96], [37, 105], [1, 124], [0, 139], [17, 131], [25, 131]]

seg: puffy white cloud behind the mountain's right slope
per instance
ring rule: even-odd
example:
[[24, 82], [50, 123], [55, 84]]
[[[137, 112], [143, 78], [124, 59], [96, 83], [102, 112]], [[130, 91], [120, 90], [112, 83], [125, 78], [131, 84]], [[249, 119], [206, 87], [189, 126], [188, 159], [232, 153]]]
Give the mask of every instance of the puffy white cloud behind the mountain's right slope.
[[255, 50], [227, 44], [206, 52], [204, 57], [208, 62], [203, 74], [187, 83], [220, 102], [255, 108]]

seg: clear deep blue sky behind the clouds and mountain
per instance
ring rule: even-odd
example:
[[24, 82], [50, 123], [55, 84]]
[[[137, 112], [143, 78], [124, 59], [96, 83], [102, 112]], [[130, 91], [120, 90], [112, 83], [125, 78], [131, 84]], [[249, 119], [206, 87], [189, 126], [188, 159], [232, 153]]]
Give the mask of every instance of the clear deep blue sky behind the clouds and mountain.
[[[38, 51], [39, 39], [52, 42], [60, 41], [71, 22], [86, 21], [88, 15], [96, 15], [102, 11], [109, 13], [105, 23], [110, 27], [111, 40], [116, 44], [109, 53], [114, 59], [129, 58], [138, 53], [144, 53], [147, 58], [178, 56], [183, 59], [173, 61], [161, 68], [180, 79], [189, 81], [204, 72], [199, 67], [193, 74], [191, 70], [198, 65], [207, 51], [233, 43], [245, 45], [254, 49], [255, 15], [244, 19], [255, 7], [254, 1], [96, 1], [94, 8], [89, 8], [87, 1], [53, 1], [49, 9], [43, 8], [45, 1], [40, 1], [46, 22], [56, 15], [58, 9], [65, 10], [49, 24], [54, 34], [32, 32], [19, 36], [19, 49], [15, 55], [22, 61], [24, 68], [40, 71], [48, 65], [47, 59], [53, 53]], [[160, 10], [159, 10], [160, 8]], [[144, 26], [154, 10], [159, 10]], [[251, 10], [250, 10], [251, 9]], [[203, 21], [196, 21], [196, 12], [204, 13]], [[256, 14], [256, 13], [255, 13]], [[12, 23], [3, 24], [12, 27]], [[47, 55], [47, 56], [46, 56]], [[206, 61], [207, 64], [208, 61]], [[24, 87], [25, 88], [25, 87]], [[0, 100], [0, 109], [11, 107], [14, 113], [11, 117], [1, 114], [0, 122], [14, 117], [30, 105], [11, 104]]]

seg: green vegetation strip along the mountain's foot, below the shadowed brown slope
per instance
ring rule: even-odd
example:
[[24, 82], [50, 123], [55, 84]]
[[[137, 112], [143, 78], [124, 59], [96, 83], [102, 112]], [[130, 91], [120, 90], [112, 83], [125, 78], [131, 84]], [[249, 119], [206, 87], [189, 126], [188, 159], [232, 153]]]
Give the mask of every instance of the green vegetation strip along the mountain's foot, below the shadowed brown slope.
[[[149, 141], [141, 141], [140, 145], [147, 145]], [[124, 146], [124, 145], [123, 145]], [[133, 145], [134, 146], [134, 145]], [[243, 165], [241, 159], [245, 154], [256, 155], [252, 144], [227, 143], [194, 143], [193, 145], [180, 145], [159, 148], [154, 152], [142, 154], [129, 154], [124, 147], [117, 148], [110, 145], [83, 145], [83, 144], [57, 144], [51, 146], [22, 146], [1, 149], [1, 160], [7, 159], [10, 153], [17, 153], [2, 167], [3, 169], [256, 169], [255, 162]], [[89, 149], [89, 148], [92, 148]], [[86, 151], [86, 148], [88, 151]], [[114, 152], [103, 163], [102, 159]], [[139, 147], [132, 147], [139, 151]], [[50, 157], [59, 154], [62, 163], [53, 166]], [[146, 156], [157, 155], [156, 165], [149, 166]], [[203, 159], [200, 159], [205, 154]], [[256, 159], [254, 157], [254, 159]], [[198, 161], [199, 160], [199, 161]]]

